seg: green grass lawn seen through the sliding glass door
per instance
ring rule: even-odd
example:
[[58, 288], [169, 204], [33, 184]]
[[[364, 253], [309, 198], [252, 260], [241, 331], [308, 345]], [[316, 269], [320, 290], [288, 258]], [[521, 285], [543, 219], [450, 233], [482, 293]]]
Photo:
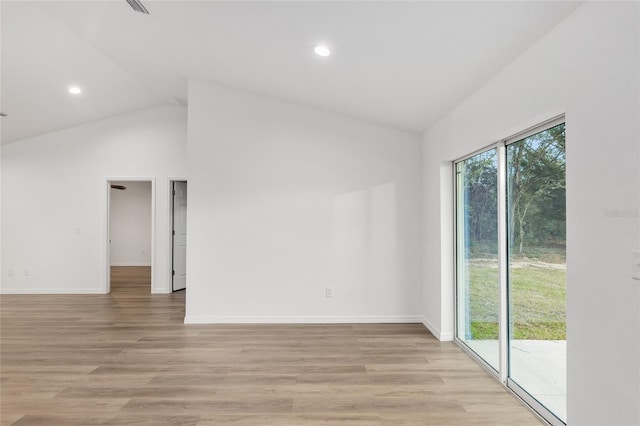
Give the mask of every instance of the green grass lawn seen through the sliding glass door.
[[[498, 269], [492, 262], [469, 264], [473, 339], [498, 338]], [[510, 270], [513, 339], [566, 339], [566, 270], [522, 265]]]

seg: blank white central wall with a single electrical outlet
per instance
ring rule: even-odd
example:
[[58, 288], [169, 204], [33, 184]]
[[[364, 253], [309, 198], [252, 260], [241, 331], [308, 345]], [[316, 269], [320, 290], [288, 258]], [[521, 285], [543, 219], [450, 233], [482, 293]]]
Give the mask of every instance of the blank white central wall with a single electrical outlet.
[[186, 321], [419, 320], [421, 155], [419, 135], [191, 81]]

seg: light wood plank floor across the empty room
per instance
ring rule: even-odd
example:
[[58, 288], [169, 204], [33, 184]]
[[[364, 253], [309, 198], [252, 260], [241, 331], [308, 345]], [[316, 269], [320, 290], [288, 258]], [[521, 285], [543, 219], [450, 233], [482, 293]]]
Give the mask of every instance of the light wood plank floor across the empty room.
[[419, 324], [185, 325], [185, 292], [3, 295], [3, 425], [540, 425]]

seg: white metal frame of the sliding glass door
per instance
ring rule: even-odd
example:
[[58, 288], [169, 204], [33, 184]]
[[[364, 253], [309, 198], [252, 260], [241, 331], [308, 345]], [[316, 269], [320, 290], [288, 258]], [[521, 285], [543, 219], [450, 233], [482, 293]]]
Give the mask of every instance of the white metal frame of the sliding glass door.
[[[454, 286], [454, 342], [460, 346], [467, 354], [482, 365], [496, 380], [498, 380], [517, 399], [529, 408], [539, 419], [553, 426], [565, 426], [565, 423], [556, 415], [531, 396], [526, 390], [515, 383], [509, 377], [509, 249], [508, 249], [508, 213], [507, 213], [507, 146], [521, 141], [536, 133], [548, 130], [559, 124], [566, 123], [565, 115], [555, 116], [542, 123], [531, 126], [521, 132], [513, 134], [500, 141], [492, 143], [484, 148], [478, 149], [471, 154], [460, 157], [452, 162], [453, 167], [453, 286]], [[472, 158], [483, 152], [496, 150], [498, 156], [497, 170], [497, 198], [498, 198], [498, 274], [499, 274], [499, 316], [498, 316], [498, 347], [499, 347], [499, 370], [496, 371], [487, 361], [473, 351], [462, 339], [458, 337], [458, 234], [460, 232], [460, 221], [458, 218], [458, 197], [459, 188], [457, 164]]]

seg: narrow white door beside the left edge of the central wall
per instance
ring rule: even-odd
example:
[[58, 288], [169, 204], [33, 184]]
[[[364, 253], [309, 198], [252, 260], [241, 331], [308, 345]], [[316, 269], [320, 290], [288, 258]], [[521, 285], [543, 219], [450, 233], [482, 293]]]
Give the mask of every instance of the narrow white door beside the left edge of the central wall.
[[173, 182], [173, 291], [187, 286], [187, 182]]

